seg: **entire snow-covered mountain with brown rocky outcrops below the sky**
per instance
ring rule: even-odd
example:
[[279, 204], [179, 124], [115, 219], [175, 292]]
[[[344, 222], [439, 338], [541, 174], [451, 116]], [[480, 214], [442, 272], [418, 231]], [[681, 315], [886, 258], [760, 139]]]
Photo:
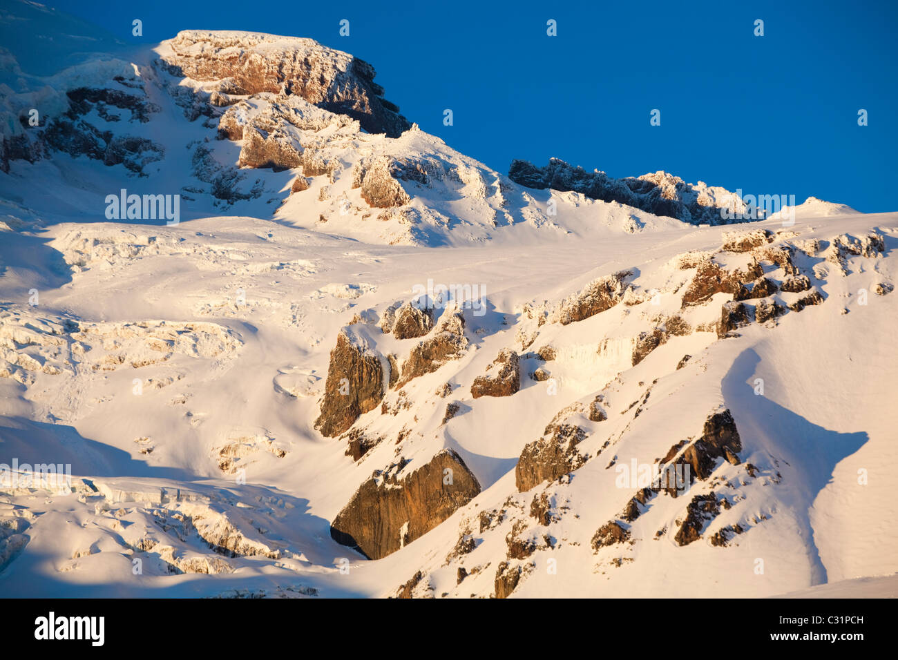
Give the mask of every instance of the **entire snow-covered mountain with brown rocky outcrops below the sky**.
[[898, 588], [898, 215], [506, 176], [313, 40], [11, 26], [60, 53], [0, 57], [0, 593]]

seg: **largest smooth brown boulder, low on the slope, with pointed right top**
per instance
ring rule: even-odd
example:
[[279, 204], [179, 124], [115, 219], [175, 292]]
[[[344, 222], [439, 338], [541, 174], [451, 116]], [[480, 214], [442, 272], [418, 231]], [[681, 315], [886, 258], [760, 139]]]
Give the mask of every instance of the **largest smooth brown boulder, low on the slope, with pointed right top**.
[[399, 479], [404, 463], [374, 472], [330, 524], [330, 536], [381, 559], [432, 530], [480, 493], [480, 483], [451, 449]]

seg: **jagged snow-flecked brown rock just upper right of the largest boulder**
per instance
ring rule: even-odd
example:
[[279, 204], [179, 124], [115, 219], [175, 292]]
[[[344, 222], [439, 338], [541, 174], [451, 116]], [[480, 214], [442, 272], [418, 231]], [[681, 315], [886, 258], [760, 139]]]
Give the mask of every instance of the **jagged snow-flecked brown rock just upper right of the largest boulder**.
[[520, 492], [545, 480], [556, 480], [575, 471], [586, 459], [577, 451], [586, 432], [571, 424], [546, 427], [539, 440], [527, 444], [515, 467], [515, 484]]

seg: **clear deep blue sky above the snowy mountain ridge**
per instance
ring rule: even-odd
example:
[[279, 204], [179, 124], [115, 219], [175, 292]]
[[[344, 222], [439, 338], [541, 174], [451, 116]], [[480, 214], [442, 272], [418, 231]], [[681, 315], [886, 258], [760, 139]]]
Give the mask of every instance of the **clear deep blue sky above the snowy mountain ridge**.
[[[373, 64], [409, 120], [500, 172], [513, 158], [556, 156], [613, 176], [666, 170], [898, 210], [896, 0], [46, 4], [128, 42], [185, 29], [311, 37]], [[135, 18], [142, 39], [131, 36]], [[340, 19], [350, 36], [339, 36]]]

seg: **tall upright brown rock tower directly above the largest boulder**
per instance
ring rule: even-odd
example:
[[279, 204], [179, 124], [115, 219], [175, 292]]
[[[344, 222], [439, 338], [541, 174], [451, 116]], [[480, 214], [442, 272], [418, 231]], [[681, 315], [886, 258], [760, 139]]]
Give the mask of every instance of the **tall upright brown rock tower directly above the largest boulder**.
[[383, 366], [380, 356], [366, 355], [354, 346], [345, 332], [330, 351], [330, 367], [324, 386], [321, 415], [315, 428], [333, 437], [346, 431], [360, 415], [377, 407], [383, 399]]

